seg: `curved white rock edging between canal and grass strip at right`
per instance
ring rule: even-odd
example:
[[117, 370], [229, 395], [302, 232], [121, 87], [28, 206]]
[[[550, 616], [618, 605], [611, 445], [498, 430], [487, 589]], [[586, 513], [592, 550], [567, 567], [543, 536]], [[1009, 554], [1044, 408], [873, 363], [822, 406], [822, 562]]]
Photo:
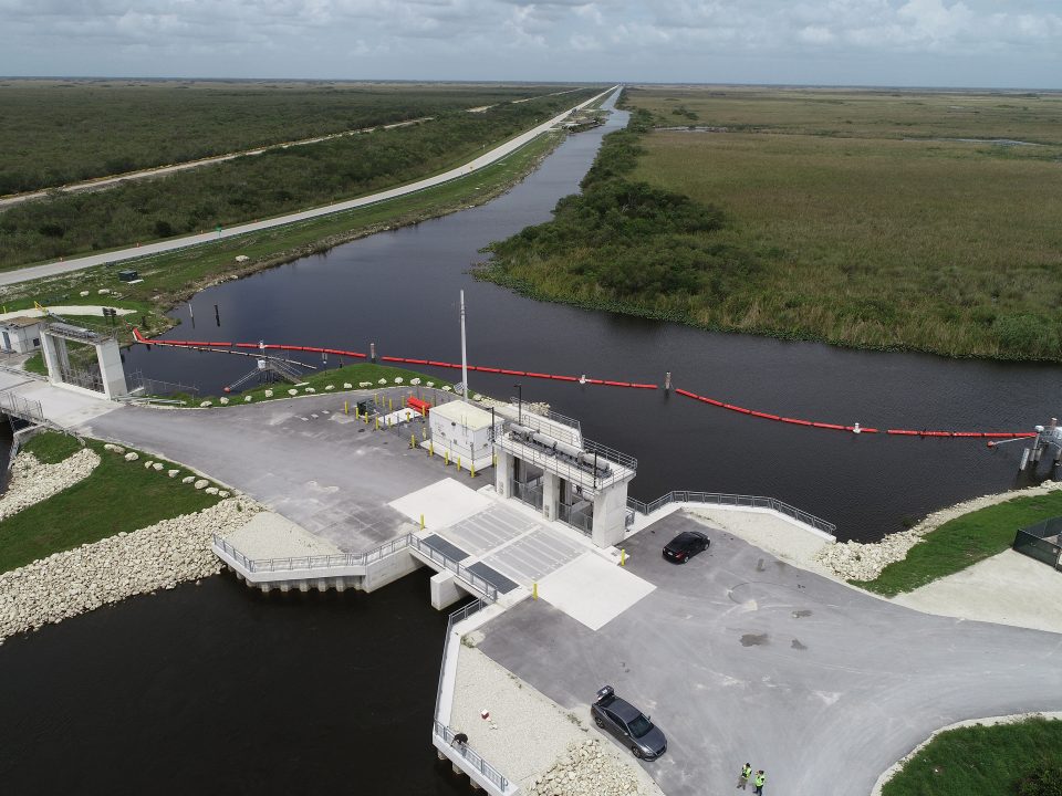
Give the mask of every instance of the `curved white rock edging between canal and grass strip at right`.
[[934, 512], [909, 531], [889, 534], [881, 542], [870, 544], [842, 542], [835, 545], [826, 545], [815, 556], [815, 561], [846, 580], [873, 580], [882, 574], [882, 569], [886, 566], [903, 561], [907, 556], [907, 551], [918, 544], [923, 536], [949, 520], [1014, 498], [1043, 495], [1059, 489], [1062, 489], [1062, 483], [1044, 481], [1039, 486], [975, 498]]

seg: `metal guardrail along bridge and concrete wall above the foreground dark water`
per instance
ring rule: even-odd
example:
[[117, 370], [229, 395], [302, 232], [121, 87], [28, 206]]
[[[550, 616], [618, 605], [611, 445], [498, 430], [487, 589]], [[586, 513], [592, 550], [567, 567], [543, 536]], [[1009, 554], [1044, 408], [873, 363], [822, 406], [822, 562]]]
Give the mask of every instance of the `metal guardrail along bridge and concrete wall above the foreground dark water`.
[[327, 576], [330, 570], [368, 566], [382, 558], [412, 547], [423, 556], [441, 564], [444, 569], [452, 572], [459, 579], [464, 580], [467, 586], [481, 594], [488, 603], [494, 603], [498, 599], [498, 588], [493, 584], [482, 576], [477, 575], [460, 562], [435, 549], [415, 534], [399, 536], [367, 553], [337, 553], [332, 555], [292, 556], [289, 558], [250, 558], [240, 553], [230, 542], [218, 534], [214, 534], [214, 546], [222, 551], [249, 573], [317, 572], [321, 576]]

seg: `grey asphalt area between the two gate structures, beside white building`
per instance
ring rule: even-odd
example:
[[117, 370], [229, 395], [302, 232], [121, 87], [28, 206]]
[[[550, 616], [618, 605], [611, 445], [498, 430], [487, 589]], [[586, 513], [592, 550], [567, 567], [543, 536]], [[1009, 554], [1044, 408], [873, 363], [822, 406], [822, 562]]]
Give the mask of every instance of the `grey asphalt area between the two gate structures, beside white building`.
[[[438, 457], [409, 450], [408, 430], [374, 431], [344, 416], [354, 395], [210, 411], [124, 406], [79, 431], [208, 473], [344, 552], [363, 553], [412, 530], [388, 502], [447, 476], [468, 481]], [[490, 483], [492, 472], [471, 485]]]

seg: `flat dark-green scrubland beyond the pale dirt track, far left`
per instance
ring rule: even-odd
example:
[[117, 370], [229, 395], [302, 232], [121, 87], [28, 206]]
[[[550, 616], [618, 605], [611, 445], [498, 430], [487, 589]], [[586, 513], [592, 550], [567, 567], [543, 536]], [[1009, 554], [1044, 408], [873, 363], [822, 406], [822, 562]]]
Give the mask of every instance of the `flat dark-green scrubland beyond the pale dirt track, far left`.
[[[0, 195], [423, 118], [556, 85], [300, 81], [0, 82]], [[27, 142], [32, 142], [28, 146]]]

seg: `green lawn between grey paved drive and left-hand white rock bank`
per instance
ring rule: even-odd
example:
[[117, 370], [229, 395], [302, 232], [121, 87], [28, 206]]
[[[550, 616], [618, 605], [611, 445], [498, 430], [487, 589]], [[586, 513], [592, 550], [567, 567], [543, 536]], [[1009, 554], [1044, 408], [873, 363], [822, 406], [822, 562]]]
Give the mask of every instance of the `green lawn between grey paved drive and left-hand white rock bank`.
[[[100, 464], [87, 478], [67, 490], [0, 522], [0, 572], [24, 566], [52, 553], [98, 542], [121, 532], [147, 527], [162, 520], [200, 511], [218, 502], [180, 478], [187, 469], [140, 453], [137, 461], [103, 450], [103, 442], [85, 440], [100, 454]], [[30, 439], [23, 450], [41, 461], [55, 463], [81, 449], [74, 438], [51, 431]], [[167, 478], [144, 468], [145, 461], [180, 469]]]

